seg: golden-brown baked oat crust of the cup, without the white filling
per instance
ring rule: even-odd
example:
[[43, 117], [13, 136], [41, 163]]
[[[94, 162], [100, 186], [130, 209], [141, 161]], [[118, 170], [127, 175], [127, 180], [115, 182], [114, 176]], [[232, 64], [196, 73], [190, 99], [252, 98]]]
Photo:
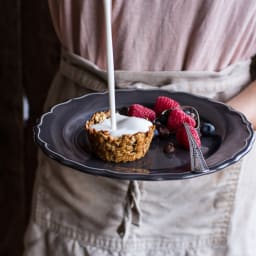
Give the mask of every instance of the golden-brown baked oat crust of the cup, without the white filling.
[[109, 162], [131, 162], [145, 156], [154, 136], [155, 126], [147, 132], [113, 137], [109, 131], [96, 131], [92, 125], [110, 118], [110, 111], [96, 112], [85, 124], [85, 130], [90, 141], [91, 150], [99, 158]]

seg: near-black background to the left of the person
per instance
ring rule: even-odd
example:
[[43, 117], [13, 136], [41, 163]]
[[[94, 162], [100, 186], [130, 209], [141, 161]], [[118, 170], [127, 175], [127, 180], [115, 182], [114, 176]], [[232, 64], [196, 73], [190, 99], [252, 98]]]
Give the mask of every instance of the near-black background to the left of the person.
[[47, 0], [2, 0], [0, 12], [0, 255], [16, 256], [23, 251], [36, 172], [32, 127], [58, 68], [60, 46]]

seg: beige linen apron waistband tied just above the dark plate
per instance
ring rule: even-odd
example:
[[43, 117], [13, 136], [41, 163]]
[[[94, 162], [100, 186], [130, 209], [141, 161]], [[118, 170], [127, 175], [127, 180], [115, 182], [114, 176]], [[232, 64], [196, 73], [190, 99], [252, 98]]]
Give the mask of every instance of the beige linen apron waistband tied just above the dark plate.
[[[251, 82], [251, 59], [221, 71], [115, 71], [117, 88], [164, 89], [207, 96], [219, 101], [239, 93]], [[105, 91], [107, 72], [92, 62], [62, 50], [60, 72], [76, 85], [92, 91]]]

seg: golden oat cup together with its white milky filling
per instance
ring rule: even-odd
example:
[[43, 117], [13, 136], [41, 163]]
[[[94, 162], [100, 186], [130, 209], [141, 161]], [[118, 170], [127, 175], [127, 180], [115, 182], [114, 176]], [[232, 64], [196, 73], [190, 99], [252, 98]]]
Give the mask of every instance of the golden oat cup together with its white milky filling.
[[116, 114], [117, 129], [111, 130], [110, 111], [96, 112], [85, 130], [92, 152], [109, 162], [131, 162], [146, 155], [155, 125], [146, 119]]

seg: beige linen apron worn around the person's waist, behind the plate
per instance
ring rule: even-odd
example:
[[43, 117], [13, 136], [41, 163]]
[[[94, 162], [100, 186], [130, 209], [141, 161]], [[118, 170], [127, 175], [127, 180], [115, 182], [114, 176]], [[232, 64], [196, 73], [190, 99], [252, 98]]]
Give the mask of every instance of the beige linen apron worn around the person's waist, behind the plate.
[[[116, 85], [225, 101], [248, 85], [249, 65], [245, 61], [220, 72], [116, 71]], [[106, 90], [106, 76], [63, 51], [47, 109]], [[254, 256], [254, 155], [255, 147], [224, 171], [195, 179], [129, 182], [87, 175], [40, 153], [24, 255]]]

